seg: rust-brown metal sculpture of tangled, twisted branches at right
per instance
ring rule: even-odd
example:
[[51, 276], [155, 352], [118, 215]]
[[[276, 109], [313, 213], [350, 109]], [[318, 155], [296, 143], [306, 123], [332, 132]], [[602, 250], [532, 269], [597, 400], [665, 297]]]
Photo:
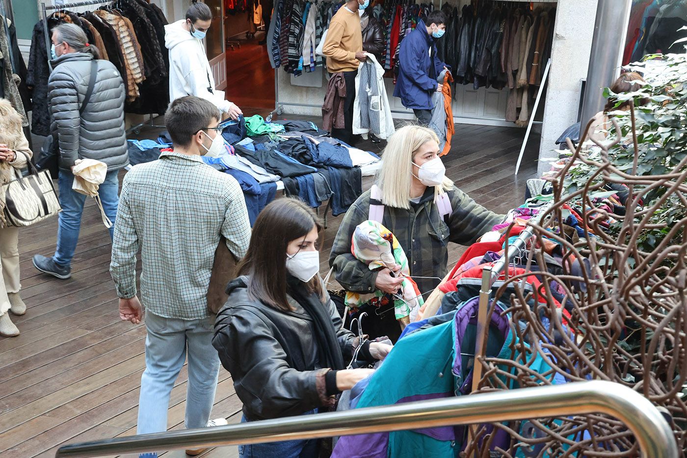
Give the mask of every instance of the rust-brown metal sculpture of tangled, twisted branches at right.
[[[510, 359], [488, 357], [475, 364], [482, 364], [484, 370], [480, 391], [592, 379], [629, 386], [664, 412], [679, 449], [685, 450], [687, 217], [656, 223], [656, 215], [669, 202], [687, 207], [687, 157], [663, 175], [641, 175], [634, 107], [631, 121], [631, 139], [626, 141], [634, 149], [634, 160], [629, 169], [621, 170], [609, 160], [609, 151], [624, 141], [615, 119], [611, 122], [618, 135], [605, 142], [592, 140], [598, 146], [593, 158], [585, 153], [588, 144], [581, 141], [574, 148], [568, 140], [572, 157], [548, 178], [553, 186], [549, 223], [528, 223], [535, 235], [525, 255], [526, 271], [531, 272], [530, 266], [539, 270], [542, 285], [538, 291], [524, 294], [515, 287], [528, 275], [523, 274], [510, 277], [499, 288], [497, 297], [506, 288], [515, 287], [506, 312], [515, 336], [510, 342]], [[564, 180], [574, 164], [591, 166], [595, 171], [585, 186], [564, 195]], [[608, 184], [627, 186], [624, 215], [599, 205], [593, 197], [605, 195]], [[657, 190], [660, 198], [646, 199]], [[586, 236], [575, 243], [565, 237], [562, 222], [573, 201], [581, 208], [580, 224]], [[642, 206], [643, 202], [649, 204]], [[607, 226], [609, 220], [614, 222], [613, 230]], [[651, 251], [638, 243], [647, 230], [660, 230], [665, 235]], [[544, 239], [562, 247], [561, 274], [548, 272]], [[574, 262], [584, 259], [589, 262]], [[563, 291], [563, 300], [554, 299], [554, 285]], [[532, 300], [532, 296], [538, 297]], [[561, 303], [568, 312], [562, 317]], [[491, 307], [488, 316], [493, 313], [493, 303]], [[512, 438], [508, 448], [493, 445], [499, 430]], [[471, 432], [473, 440], [465, 450], [468, 457], [493, 456], [489, 455], [490, 448], [504, 457], [615, 458], [639, 454], [627, 428], [604, 415], [473, 426]]]

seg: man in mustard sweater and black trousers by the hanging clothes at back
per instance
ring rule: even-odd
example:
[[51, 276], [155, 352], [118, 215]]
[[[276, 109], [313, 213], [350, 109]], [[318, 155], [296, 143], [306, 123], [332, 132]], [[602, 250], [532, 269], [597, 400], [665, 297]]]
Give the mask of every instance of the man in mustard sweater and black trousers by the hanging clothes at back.
[[360, 29], [359, 10], [370, 5], [370, 0], [350, 0], [339, 8], [329, 23], [322, 54], [327, 58], [327, 70], [331, 74], [343, 73], [346, 80], [346, 102], [343, 105], [344, 129], [332, 129], [332, 136], [348, 144], [353, 142], [353, 102], [355, 77], [358, 65], [365, 61], [363, 34]]

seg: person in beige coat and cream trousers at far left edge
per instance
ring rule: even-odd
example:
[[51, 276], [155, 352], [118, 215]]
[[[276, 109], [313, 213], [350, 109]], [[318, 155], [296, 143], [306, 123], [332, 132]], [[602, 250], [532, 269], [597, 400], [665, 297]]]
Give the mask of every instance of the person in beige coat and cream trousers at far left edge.
[[[26, 166], [32, 152], [21, 129], [21, 116], [10, 102], [0, 99], [0, 184], [14, 179], [14, 169]], [[26, 305], [19, 296], [19, 232], [4, 223], [4, 201], [0, 198], [0, 335], [18, 336], [19, 329], [10, 319], [10, 313], [23, 315]]]

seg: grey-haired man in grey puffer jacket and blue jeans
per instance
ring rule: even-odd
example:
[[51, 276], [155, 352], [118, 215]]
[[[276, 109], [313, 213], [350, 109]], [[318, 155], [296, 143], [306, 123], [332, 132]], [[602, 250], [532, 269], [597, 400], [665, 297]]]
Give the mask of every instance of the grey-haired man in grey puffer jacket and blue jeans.
[[[52, 65], [48, 80], [48, 104], [52, 132], [60, 149], [60, 205], [57, 249], [52, 258], [36, 254], [34, 266], [58, 279], [71, 276], [71, 259], [78, 242], [86, 196], [71, 189], [71, 168], [78, 159], [95, 159], [107, 165], [105, 181], [98, 194], [105, 214], [113, 223], [119, 179], [117, 173], [128, 165], [124, 131], [124, 81], [115, 66], [100, 57], [95, 45], [77, 25], [60, 24], [52, 32]], [[91, 76], [93, 89], [87, 98]]]

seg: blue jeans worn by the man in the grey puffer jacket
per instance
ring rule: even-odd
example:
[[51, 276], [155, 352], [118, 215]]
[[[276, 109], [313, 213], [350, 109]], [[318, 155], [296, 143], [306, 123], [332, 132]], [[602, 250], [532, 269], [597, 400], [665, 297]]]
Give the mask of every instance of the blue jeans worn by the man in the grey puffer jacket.
[[[105, 175], [105, 181], [98, 188], [102, 208], [105, 210], [105, 215], [112, 221], [110, 239], [115, 234], [115, 217], [117, 217], [117, 205], [120, 202], [118, 173], [119, 171], [108, 172]], [[81, 228], [81, 214], [84, 211], [86, 201], [86, 195], [71, 189], [72, 183], [74, 183], [74, 175], [71, 172], [60, 170], [58, 185], [62, 211], [58, 217], [57, 249], [53, 257], [54, 261], [60, 265], [69, 265], [71, 258], [74, 257]]]

